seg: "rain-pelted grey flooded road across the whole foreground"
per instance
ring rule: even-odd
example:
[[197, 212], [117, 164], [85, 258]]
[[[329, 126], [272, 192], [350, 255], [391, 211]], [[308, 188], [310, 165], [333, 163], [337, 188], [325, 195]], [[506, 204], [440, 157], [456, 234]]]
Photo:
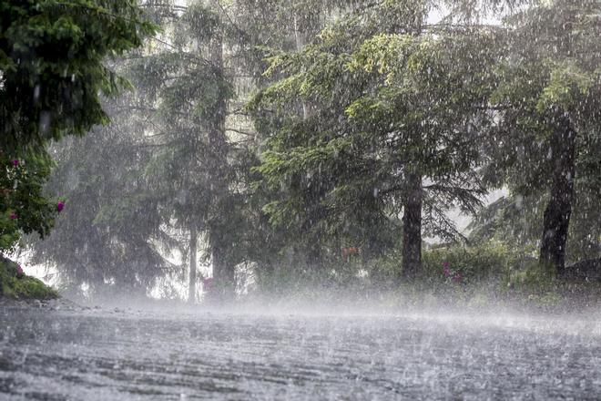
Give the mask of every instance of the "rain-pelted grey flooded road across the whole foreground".
[[601, 323], [0, 309], [1, 400], [600, 399]]

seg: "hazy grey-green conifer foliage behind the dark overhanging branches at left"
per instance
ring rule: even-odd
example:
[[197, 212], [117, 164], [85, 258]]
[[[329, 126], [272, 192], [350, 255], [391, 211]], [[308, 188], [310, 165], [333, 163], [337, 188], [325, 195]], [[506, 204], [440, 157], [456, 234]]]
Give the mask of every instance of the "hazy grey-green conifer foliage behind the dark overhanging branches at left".
[[250, 214], [260, 206], [250, 209], [256, 200], [241, 194], [256, 158], [229, 143], [223, 124], [235, 92], [217, 49], [249, 49], [235, 45], [242, 38], [221, 9], [195, 2], [149, 5], [148, 12], [165, 35], [113, 63], [136, 92], [105, 102], [112, 124], [57, 149], [50, 188], [72, 206], [48, 241], [35, 244], [36, 261], [55, 262], [66, 283], [88, 283], [92, 293], [107, 286], [146, 293], [158, 277], [183, 280], [184, 266], [164, 256], [188, 257], [182, 234], [192, 226], [231, 266], [260, 259], [270, 246], [272, 233], [258, 240], [266, 224]]

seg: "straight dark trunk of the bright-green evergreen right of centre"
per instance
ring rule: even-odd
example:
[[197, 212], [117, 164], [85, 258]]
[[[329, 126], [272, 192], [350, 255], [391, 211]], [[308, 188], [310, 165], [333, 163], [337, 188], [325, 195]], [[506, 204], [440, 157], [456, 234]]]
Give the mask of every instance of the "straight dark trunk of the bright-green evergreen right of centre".
[[422, 270], [422, 176], [409, 174], [402, 215], [402, 276], [412, 280]]

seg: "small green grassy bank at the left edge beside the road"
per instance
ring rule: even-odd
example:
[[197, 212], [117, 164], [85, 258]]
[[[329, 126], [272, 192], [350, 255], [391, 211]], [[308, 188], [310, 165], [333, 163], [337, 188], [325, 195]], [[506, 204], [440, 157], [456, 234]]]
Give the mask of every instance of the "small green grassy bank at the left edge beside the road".
[[47, 300], [58, 298], [56, 291], [34, 277], [19, 272], [18, 264], [0, 256], [0, 298]]

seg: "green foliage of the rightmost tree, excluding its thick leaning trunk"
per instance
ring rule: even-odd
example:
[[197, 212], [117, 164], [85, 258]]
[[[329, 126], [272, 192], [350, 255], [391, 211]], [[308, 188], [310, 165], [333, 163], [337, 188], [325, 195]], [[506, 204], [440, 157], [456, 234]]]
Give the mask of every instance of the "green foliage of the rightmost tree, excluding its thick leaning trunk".
[[500, 124], [492, 132], [493, 140], [484, 144], [491, 160], [485, 180], [508, 184], [524, 196], [548, 190], [557, 157], [553, 134], [561, 116], [576, 129], [580, 143], [576, 180], [597, 180], [598, 170], [578, 165], [596, 149], [588, 144], [596, 142], [601, 122], [596, 40], [600, 27], [592, 16], [598, 13], [596, 2], [556, 0], [506, 20], [511, 28], [501, 47], [506, 56], [496, 66], [498, 86], [490, 98], [501, 109]]

